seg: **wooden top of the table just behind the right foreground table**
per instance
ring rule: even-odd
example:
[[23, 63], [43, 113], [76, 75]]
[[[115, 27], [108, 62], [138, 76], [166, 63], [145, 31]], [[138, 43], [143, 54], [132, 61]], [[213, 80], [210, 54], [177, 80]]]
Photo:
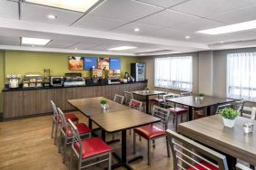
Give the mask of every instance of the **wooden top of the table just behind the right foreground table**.
[[185, 96], [180, 98], [168, 99], [174, 103], [185, 105], [192, 108], [204, 108], [217, 104], [227, 103], [233, 101], [233, 99], [218, 98], [213, 96], [204, 96], [203, 99], [195, 101], [195, 96]]

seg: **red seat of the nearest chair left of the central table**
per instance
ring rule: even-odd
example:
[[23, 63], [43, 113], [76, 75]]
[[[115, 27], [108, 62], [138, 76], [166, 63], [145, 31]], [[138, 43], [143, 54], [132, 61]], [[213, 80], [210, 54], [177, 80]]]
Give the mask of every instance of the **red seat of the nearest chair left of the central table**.
[[[107, 146], [103, 140], [99, 137], [92, 137], [86, 140], [82, 140], [82, 158], [87, 158], [90, 156], [97, 156], [106, 152], [110, 152], [112, 148]], [[80, 146], [79, 143], [74, 144], [74, 149], [79, 153]]]

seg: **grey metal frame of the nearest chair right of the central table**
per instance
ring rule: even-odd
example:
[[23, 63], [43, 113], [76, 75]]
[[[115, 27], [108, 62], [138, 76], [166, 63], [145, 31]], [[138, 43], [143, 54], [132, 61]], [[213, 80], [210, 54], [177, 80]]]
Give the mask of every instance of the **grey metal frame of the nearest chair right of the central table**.
[[[163, 109], [161, 107], [158, 107], [158, 106], [153, 106], [153, 117], [156, 117], [156, 118], [160, 118], [161, 121], [159, 123], [156, 123], [156, 124], [159, 124], [160, 127], [162, 127], [162, 130], [166, 130], [167, 127], [168, 127], [168, 119], [169, 119], [169, 116], [170, 116], [170, 110], [168, 109]], [[154, 124], [155, 125], [155, 124]], [[153, 126], [153, 125], [152, 125]], [[136, 136], [138, 135], [139, 137], [143, 137], [143, 136], [140, 136], [139, 134], [137, 134], [135, 131], [133, 131], [133, 154], [136, 154]], [[158, 139], [158, 138], [162, 138], [162, 137], [166, 137], [166, 140], [163, 140], [161, 142], [158, 142], [157, 144], [159, 143], [166, 143], [166, 146], [167, 146], [167, 155], [168, 157], [170, 157], [170, 148], [168, 146], [168, 141], [167, 141], [167, 136], [161, 136], [161, 137], [153, 137], [151, 139], [148, 139], [148, 138], [145, 138], [143, 137], [144, 139], [147, 140], [148, 142], [148, 165], [151, 165], [151, 146], [153, 146], [153, 148], [155, 148], [155, 140]]]

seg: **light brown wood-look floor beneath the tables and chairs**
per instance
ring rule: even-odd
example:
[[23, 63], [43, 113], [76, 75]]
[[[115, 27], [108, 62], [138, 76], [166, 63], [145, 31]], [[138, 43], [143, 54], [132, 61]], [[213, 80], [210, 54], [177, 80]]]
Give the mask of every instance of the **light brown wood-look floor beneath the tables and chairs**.
[[[83, 114], [74, 112], [80, 122], [87, 123]], [[0, 169], [1, 170], [64, 170], [68, 169], [62, 162], [62, 154], [58, 153], [54, 139], [51, 138], [52, 116], [24, 118], [0, 123]], [[170, 123], [169, 128], [172, 128]], [[120, 138], [120, 134], [116, 135]], [[112, 136], [107, 136], [111, 139]], [[127, 133], [128, 158], [133, 157], [133, 136]], [[152, 165], [147, 165], [146, 141], [137, 141], [137, 154], [142, 160], [133, 162], [133, 169], [172, 169], [172, 156], [167, 157], [165, 143], [156, 145], [152, 152]], [[120, 143], [111, 145], [114, 152], [121, 151]], [[74, 161], [73, 169], [77, 169]], [[113, 159], [113, 164], [115, 160]], [[94, 165], [88, 169], [103, 169], [107, 164]], [[125, 169], [125, 168], [119, 168]]]

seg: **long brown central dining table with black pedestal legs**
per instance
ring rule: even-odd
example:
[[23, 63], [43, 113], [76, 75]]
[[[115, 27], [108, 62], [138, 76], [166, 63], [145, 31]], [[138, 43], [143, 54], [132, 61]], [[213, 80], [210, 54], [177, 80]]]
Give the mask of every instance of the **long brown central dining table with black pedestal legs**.
[[[102, 109], [101, 100], [107, 101], [108, 109]], [[68, 100], [68, 103], [81, 111], [85, 117], [89, 118], [89, 125], [91, 124], [89, 127], [92, 127], [92, 123], [94, 122], [98, 127], [102, 129], [101, 137], [103, 141], [105, 141], [106, 132], [122, 132], [122, 154], [121, 156], [118, 156], [113, 152], [113, 156], [116, 157], [118, 163], [112, 165], [112, 169], [118, 168], [120, 166], [126, 167], [127, 169], [133, 169], [130, 163], [137, 159], [143, 158], [143, 156], [135, 156], [133, 159], [127, 159], [127, 129], [141, 127], [161, 121], [160, 118], [155, 118], [139, 110], [131, 109], [103, 97], [70, 99]]]

